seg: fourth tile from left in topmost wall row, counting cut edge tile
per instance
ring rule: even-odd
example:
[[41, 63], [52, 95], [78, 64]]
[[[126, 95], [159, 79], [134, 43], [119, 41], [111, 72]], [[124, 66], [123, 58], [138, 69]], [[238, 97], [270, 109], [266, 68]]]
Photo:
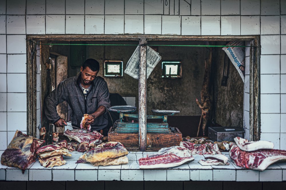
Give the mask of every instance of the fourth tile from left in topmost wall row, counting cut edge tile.
[[65, 14], [65, 0], [46, 0], [46, 14]]

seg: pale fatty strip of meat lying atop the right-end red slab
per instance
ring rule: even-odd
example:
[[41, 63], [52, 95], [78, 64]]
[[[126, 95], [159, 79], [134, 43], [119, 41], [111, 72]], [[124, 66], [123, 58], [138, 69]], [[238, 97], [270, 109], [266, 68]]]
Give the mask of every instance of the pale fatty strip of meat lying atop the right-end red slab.
[[241, 137], [235, 137], [234, 138], [235, 143], [240, 148], [240, 150], [244, 151], [255, 151], [260, 149], [273, 149], [274, 143], [265, 141], [265, 140], [259, 140], [259, 141], [248, 141], [247, 139], [241, 138]]

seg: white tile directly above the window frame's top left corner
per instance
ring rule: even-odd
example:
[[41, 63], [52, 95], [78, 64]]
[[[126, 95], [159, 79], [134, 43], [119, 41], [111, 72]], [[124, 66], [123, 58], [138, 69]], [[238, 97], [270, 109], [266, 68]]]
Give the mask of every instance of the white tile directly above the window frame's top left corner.
[[45, 34], [45, 15], [27, 15], [27, 34]]

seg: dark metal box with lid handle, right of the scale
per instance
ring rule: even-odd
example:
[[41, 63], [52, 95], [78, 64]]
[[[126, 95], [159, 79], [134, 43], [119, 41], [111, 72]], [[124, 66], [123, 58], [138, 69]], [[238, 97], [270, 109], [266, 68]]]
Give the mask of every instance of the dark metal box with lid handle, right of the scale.
[[244, 129], [240, 127], [209, 127], [208, 138], [213, 141], [232, 141], [234, 138], [239, 136], [244, 138]]

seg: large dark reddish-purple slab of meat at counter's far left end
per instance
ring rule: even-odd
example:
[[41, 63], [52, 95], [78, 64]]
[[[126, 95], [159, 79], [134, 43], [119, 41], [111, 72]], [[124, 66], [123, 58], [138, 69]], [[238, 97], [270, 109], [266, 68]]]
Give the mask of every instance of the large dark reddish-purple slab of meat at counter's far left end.
[[43, 143], [43, 140], [28, 136], [17, 130], [7, 149], [1, 155], [1, 164], [18, 167], [24, 172], [32, 162], [35, 162], [36, 151]]

